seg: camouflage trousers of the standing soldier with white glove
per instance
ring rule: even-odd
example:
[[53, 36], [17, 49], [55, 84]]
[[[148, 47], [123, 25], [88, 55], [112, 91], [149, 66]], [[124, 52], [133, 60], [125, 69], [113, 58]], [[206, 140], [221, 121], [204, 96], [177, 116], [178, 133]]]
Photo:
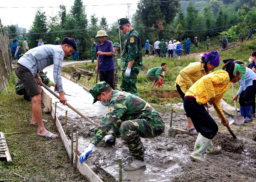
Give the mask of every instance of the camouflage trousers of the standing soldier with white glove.
[[125, 76], [125, 70], [122, 71], [122, 83], [120, 85], [120, 89], [122, 91], [129, 92], [136, 96], [139, 96], [137, 91], [137, 75], [139, 71], [131, 71], [131, 76]]

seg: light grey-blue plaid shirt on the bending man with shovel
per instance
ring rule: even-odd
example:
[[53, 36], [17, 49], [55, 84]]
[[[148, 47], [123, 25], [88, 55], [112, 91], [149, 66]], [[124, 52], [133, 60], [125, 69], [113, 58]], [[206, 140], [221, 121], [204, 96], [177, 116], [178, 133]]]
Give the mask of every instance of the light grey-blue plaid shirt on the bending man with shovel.
[[54, 64], [53, 79], [55, 85], [54, 91], [63, 91], [61, 82], [61, 67], [65, 53], [61, 45], [41, 45], [26, 52], [18, 61], [19, 64], [28, 68], [35, 76], [39, 70]]

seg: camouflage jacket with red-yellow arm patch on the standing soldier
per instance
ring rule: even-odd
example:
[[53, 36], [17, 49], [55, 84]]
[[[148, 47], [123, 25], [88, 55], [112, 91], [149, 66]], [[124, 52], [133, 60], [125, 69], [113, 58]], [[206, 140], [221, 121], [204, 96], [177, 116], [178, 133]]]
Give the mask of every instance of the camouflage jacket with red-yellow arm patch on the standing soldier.
[[126, 36], [121, 56], [121, 70], [126, 70], [129, 61], [134, 60], [131, 70], [139, 71], [142, 67], [142, 51], [139, 34], [132, 29]]

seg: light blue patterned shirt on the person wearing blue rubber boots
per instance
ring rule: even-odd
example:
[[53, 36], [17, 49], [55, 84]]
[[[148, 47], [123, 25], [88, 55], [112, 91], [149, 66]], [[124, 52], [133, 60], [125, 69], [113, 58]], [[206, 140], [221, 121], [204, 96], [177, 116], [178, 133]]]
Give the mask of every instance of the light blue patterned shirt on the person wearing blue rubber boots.
[[250, 68], [246, 67], [246, 74], [245, 74], [245, 79], [244, 80], [239, 80], [239, 84], [240, 84], [240, 88], [237, 92], [237, 95], [241, 95], [241, 93], [243, 91], [245, 91], [245, 89], [248, 86], [251, 86], [253, 83], [252, 81], [256, 80], [256, 74], [254, 73], [254, 71], [252, 71]]

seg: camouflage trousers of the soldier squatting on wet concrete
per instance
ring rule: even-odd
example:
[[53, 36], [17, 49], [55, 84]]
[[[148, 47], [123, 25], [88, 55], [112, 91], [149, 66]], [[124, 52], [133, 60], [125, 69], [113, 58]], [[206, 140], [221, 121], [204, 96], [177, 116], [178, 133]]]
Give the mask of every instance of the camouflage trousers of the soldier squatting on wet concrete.
[[144, 161], [144, 150], [142, 148], [142, 138], [155, 138], [162, 134], [162, 130], [156, 130], [150, 126], [146, 119], [136, 119], [128, 121], [117, 121], [112, 127], [115, 136], [126, 141], [130, 154], [137, 160]]

